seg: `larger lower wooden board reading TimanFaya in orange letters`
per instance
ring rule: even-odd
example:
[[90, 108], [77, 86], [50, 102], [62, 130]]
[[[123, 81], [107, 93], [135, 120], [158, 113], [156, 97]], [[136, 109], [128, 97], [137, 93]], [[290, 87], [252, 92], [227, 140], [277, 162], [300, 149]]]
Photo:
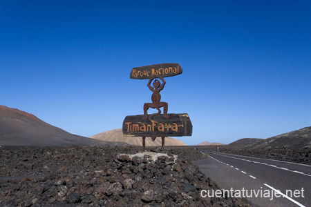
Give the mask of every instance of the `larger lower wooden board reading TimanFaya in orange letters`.
[[[192, 135], [192, 124], [188, 114], [167, 114], [169, 119], [156, 115], [144, 119], [144, 115], [126, 116], [123, 135], [132, 137], [182, 137]], [[143, 120], [144, 119], [144, 120]]]

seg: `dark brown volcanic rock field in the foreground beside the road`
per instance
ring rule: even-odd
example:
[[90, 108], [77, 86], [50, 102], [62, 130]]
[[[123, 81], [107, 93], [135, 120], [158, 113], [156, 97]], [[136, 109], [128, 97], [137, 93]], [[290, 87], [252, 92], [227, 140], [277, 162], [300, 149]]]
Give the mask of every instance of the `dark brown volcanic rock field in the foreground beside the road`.
[[199, 150], [140, 149], [1, 147], [0, 206], [250, 206], [200, 197], [220, 188], [191, 164]]

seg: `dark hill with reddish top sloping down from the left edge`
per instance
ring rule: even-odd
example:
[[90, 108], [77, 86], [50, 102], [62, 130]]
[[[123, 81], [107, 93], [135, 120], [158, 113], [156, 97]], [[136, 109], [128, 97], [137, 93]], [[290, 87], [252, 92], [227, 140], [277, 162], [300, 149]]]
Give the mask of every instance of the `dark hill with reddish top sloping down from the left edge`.
[[124, 146], [70, 134], [28, 112], [0, 105], [0, 146]]

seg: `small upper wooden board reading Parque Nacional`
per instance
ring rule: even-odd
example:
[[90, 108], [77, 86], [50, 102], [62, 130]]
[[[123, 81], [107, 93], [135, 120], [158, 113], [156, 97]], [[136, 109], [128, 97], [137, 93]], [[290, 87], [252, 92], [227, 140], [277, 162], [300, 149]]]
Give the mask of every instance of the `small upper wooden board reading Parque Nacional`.
[[150, 79], [158, 77], [171, 77], [180, 75], [182, 67], [178, 63], [162, 63], [150, 66], [133, 68], [130, 74], [131, 79]]

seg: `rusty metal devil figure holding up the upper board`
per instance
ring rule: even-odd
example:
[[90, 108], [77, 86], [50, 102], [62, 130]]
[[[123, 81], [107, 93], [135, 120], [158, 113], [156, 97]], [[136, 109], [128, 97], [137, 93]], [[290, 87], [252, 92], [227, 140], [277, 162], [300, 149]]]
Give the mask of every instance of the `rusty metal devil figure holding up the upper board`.
[[[167, 115], [167, 108], [168, 108], [168, 103], [167, 102], [160, 102], [161, 101], [161, 95], [160, 91], [164, 88], [165, 81], [163, 77], [159, 77], [162, 80], [162, 83], [158, 79], [150, 78], [149, 82], [147, 84], [148, 88], [153, 92], [151, 95], [151, 101], [152, 103], [144, 103], [144, 117], [143, 120], [148, 118], [147, 110], [149, 108], [156, 108], [158, 110], [157, 113], [154, 113], [152, 115], [149, 115], [149, 120], [151, 121], [152, 117], [155, 115], [160, 115], [161, 110], [160, 108], [163, 107], [163, 117], [164, 119], [169, 119], [169, 115]], [[153, 87], [150, 86], [151, 81], [153, 81]]]

